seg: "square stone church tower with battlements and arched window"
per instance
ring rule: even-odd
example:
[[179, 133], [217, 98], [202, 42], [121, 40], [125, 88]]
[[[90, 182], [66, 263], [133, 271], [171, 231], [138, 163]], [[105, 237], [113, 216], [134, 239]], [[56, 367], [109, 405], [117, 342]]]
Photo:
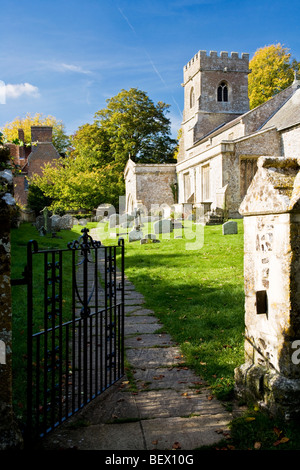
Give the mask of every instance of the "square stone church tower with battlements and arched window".
[[199, 51], [183, 69], [184, 114], [179, 159], [195, 142], [249, 111], [249, 54]]

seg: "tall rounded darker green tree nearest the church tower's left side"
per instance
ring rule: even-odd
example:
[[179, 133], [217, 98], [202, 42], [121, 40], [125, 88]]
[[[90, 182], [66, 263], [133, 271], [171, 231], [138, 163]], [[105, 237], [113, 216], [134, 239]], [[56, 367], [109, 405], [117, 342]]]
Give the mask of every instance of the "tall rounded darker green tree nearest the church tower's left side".
[[108, 158], [125, 166], [131, 156], [140, 163], [165, 163], [173, 158], [176, 140], [170, 137], [169, 105], [156, 105], [137, 88], [121, 90], [96, 112], [95, 124], [109, 140]]

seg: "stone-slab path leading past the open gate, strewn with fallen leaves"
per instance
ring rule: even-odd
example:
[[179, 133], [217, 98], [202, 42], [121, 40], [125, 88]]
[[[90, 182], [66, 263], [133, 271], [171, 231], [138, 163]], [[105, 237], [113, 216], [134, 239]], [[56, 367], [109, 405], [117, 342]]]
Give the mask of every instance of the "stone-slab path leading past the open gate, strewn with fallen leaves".
[[[193, 450], [228, 435], [231, 413], [193, 371], [126, 280], [125, 376], [43, 440], [44, 449]], [[129, 374], [128, 374], [129, 376]]]

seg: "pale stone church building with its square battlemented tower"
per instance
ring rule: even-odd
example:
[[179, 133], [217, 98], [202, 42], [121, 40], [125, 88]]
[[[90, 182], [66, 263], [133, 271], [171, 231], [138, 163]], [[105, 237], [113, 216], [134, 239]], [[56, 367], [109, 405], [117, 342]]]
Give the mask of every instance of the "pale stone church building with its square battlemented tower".
[[[158, 204], [241, 217], [259, 156], [300, 156], [300, 81], [249, 110], [249, 54], [199, 51], [183, 69], [177, 163], [125, 168], [126, 210]], [[176, 191], [174, 191], [176, 188]]]

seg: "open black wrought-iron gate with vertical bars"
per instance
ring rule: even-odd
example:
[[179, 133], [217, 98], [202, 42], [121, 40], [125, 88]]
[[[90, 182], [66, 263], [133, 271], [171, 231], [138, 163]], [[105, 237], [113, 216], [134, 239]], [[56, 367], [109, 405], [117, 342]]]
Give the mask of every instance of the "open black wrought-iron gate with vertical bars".
[[66, 249], [39, 250], [35, 241], [27, 246], [29, 440], [46, 435], [124, 374], [124, 241], [103, 246], [88, 229], [82, 233]]

